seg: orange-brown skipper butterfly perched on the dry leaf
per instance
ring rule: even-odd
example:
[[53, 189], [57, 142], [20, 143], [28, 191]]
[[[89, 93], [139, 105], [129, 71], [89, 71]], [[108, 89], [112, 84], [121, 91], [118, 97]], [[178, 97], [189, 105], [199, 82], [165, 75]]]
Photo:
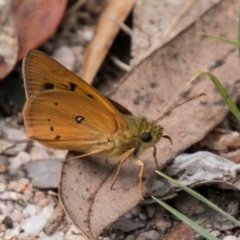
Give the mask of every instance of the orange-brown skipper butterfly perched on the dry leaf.
[[140, 167], [139, 193], [143, 199], [144, 163], [139, 156], [162, 137], [171, 141], [163, 135], [159, 119], [148, 121], [132, 115], [37, 50], [24, 58], [23, 78], [27, 98], [23, 117], [28, 137], [50, 148], [77, 151], [78, 158], [101, 154], [115, 159], [119, 164], [113, 184], [122, 164], [130, 159]]

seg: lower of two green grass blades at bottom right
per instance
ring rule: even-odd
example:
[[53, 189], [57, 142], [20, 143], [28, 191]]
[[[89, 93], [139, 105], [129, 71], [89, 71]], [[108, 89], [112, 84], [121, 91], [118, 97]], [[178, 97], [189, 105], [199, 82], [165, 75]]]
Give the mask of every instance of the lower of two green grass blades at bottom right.
[[189, 227], [191, 227], [193, 230], [198, 232], [200, 235], [204, 236], [206, 239], [208, 239], [208, 240], [218, 240], [213, 235], [211, 235], [209, 232], [207, 232], [205, 229], [203, 229], [201, 226], [199, 226], [197, 223], [195, 223], [190, 218], [186, 217], [185, 215], [183, 215], [182, 213], [180, 213], [176, 209], [172, 208], [171, 206], [169, 206], [165, 202], [163, 202], [163, 201], [161, 201], [161, 200], [159, 200], [159, 199], [157, 199], [157, 198], [155, 198], [153, 196], [152, 196], [152, 198], [157, 203], [159, 203], [162, 207], [164, 207], [169, 212], [171, 212], [174, 216], [176, 216], [178, 219], [180, 219], [182, 222], [187, 224]]

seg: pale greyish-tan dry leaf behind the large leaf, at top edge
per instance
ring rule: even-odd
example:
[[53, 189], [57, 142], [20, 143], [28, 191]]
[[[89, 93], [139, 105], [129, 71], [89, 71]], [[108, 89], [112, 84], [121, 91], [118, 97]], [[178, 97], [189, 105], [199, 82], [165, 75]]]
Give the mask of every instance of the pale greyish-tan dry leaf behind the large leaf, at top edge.
[[131, 65], [173, 39], [220, 1], [137, 1], [133, 10]]

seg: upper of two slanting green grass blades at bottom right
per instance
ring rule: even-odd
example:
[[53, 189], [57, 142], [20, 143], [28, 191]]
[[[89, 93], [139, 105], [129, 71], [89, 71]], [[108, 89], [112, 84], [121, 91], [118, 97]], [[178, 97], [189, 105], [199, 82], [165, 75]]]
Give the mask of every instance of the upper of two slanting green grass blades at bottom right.
[[231, 215], [229, 215], [228, 213], [224, 212], [222, 209], [220, 209], [217, 205], [215, 205], [214, 203], [210, 202], [209, 200], [207, 200], [205, 197], [203, 197], [202, 195], [200, 195], [199, 193], [193, 191], [192, 189], [182, 185], [181, 183], [179, 183], [178, 181], [170, 178], [169, 176], [167, 176], [166, 174], [156, 171], [157, 174], [159, 174], [160, 176], [162, 176], [163, 178], [167, 179], [169, 182], [175, 184], [176, 186], [180, 187], [182, 190], [184, 190], [185, 192], [191, 194], [193, 197], [197, 198], [198, 200], [204, 202], [206, 205], [208, 205], [209, 207], [211, 207], [212, 209], [214, 209], [216, 212], [218, 212], [219, 214], [221, 214], [223, 217], [225, 217], [226, 219], [228, 219], [229, 221], [233, 222], [234, 224], [236, 224], [237, 226], [240, 226], [240, 222], [235, 219], [234, 217], [232, 217]]

